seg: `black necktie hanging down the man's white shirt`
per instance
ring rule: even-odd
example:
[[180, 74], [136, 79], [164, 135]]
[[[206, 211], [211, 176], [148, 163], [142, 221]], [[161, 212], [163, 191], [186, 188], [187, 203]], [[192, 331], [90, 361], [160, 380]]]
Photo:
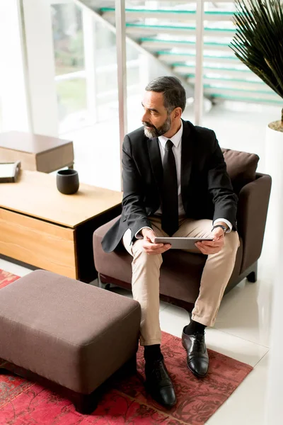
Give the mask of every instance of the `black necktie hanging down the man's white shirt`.
[[173, 143], [167, 140], [163, 159], [161, 227], [169, 236], [178, 230], [178, 181]]

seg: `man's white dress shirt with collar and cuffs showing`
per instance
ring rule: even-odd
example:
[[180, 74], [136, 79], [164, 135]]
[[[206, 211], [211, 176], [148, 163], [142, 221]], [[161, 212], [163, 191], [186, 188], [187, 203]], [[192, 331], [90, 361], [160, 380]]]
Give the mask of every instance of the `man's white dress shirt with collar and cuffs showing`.
[[[173, 137], [170, 137], [170, 139], [168, 137], [165, 137], [165, 136], [159, 136], [158, 137], [159, 149], [160, 149], [162, 163], [163, 163], [163, 159], [164, 159], [164, 155], [165, 155], [165, 145], [166, 145], [167, 140], [171, 140], [171, 142], [173, 143], [172, 151], [173, 151], [173, 154], [174, 154], [174, 157], [175, 157], [175, 164], [176, 164], [176, 169], [177, 169], [177, 181], [178, 181], [178, 212], [179, 212], [179, 218], [185, 217], [185, 210], [184, 210], [182, 194], [181, 194], [182, 135], [183, 135], [183, 121], [181, 120], [180, 130], [178, 130], [178, 132], [176, 132], [176, 134], [173, 135]], [[161, 206], [158, 208], [158, 210], [156, 212], [154, 212], [154, 215], [162, 215]], [[229, 229], [227, 229], [227, 233], [231, 232], [231, 229], [233, 227], [231, 225], [231, 222], [229, 222], [225, 218], [217, 218], [217, 220], [214, 221], [213, 225], [216, 225], [217, 222], [226, 223], [226, 225], [229, 227]], [[151, 227], [141, 227], [141, 229], [151, 229]], [[139, 229], [139, 232], [141, 231], [141, 229]], [[135, 237], [137, 239], [142, 238], [142, 236], [141, 236], [141, 234], [139, 234], [139, 232], [137, 232], [135, 234]]]

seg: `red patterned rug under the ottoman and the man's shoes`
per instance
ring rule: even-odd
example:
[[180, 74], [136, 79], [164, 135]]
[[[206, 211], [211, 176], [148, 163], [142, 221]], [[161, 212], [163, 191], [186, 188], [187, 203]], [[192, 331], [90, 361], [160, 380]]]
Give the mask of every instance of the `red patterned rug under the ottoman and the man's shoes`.
[[[0, 288], [16, 279], [18, 276], [0, 270]], [[178, 404], [170, 411], [146, 395], [140, 349], [139, 373], [115, 382], [91, 415], [77, 413], [69, 400], [40, 385], [1, 375], [0, 425], [204, 425], [253, 369], [209, 350], [209, 374], [197, 379], [187, 369], [180, 338], [163, 332], [162, 346], [178, 398]]]

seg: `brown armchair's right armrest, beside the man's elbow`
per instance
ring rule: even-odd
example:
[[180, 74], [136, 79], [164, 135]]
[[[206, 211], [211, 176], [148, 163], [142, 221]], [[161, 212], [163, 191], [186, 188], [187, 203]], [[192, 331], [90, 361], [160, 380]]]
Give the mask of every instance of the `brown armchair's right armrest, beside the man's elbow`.
[[238, 196], [238, 233], [243, 239], [241, 273], [260, 258], [265, 234], [271, 177], [257, 173]]

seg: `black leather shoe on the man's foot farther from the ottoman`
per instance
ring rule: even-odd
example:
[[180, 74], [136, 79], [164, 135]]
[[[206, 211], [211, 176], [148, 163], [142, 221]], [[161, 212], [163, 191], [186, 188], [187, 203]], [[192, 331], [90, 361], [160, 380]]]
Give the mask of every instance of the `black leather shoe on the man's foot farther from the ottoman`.
[[183, 329], [182, 344], [187, 351], [187, 367], [198, 378], [204, 378], [208, 372], [209, 357], [207, 347], [204, 341], [204, 334], [195, 332], [193, 335], [187, 335]]

